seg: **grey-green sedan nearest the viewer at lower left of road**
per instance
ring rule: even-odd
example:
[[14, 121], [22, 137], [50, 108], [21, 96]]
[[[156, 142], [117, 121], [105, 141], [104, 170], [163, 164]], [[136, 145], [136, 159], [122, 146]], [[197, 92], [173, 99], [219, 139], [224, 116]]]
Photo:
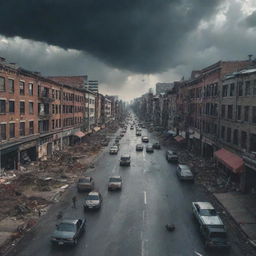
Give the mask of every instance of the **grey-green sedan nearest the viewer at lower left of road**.
[[63, 220], [56, 225], [56, 230], [51, 235], [52, 244], [76, 245], [78, 239], [85, 231], [85, 219]]

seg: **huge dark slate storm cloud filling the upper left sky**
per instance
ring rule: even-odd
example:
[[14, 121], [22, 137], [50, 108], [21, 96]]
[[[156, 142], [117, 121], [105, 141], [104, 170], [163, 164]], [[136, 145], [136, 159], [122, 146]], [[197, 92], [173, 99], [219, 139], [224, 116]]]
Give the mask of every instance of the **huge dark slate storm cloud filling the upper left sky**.
[[140, 73], [175, 65], [187, 35], [220, 0], [8, 0], [0, 34], [89, 52]]

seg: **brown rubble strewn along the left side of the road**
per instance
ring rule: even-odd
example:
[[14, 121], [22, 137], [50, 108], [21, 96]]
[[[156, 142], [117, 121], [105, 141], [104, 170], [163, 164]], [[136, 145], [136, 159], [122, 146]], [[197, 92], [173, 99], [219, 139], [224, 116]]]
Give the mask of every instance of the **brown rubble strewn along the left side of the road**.
[[[111, 125], [86, 136], [81, 144], [55, 151], [42, 161], [31, 162], [25, 157], [18, 171], [1, 170], [0, 223], [10, 217], [19, 219], [16, 229], [7, 239], [9, 244], [15, 244], [24, 232], [31, 229], [80, 175], [88, 168], [95, 168], [93, 160], [102, 149], [101, 141], [109, 141], [117, 129], [117, 125]], [[4, 234], [0, 226], [0, 235], [1, 232]]]

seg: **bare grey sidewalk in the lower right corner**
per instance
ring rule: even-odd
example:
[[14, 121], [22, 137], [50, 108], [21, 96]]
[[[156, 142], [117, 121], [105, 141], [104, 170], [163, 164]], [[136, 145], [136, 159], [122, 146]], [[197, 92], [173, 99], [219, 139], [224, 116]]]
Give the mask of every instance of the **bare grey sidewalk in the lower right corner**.
[[248, 239], [256, 243], [256, 195], [239, 192], [214, 193]]

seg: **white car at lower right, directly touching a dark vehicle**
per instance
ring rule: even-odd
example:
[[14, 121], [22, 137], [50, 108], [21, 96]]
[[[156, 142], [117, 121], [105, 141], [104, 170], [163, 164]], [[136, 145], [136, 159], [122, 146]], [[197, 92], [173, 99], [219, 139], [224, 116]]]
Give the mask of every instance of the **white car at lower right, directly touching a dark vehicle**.
[[192, 211], [201, 227], [205, 225], [224, 226], [221, 218], [209, 202], [192, 202]]

